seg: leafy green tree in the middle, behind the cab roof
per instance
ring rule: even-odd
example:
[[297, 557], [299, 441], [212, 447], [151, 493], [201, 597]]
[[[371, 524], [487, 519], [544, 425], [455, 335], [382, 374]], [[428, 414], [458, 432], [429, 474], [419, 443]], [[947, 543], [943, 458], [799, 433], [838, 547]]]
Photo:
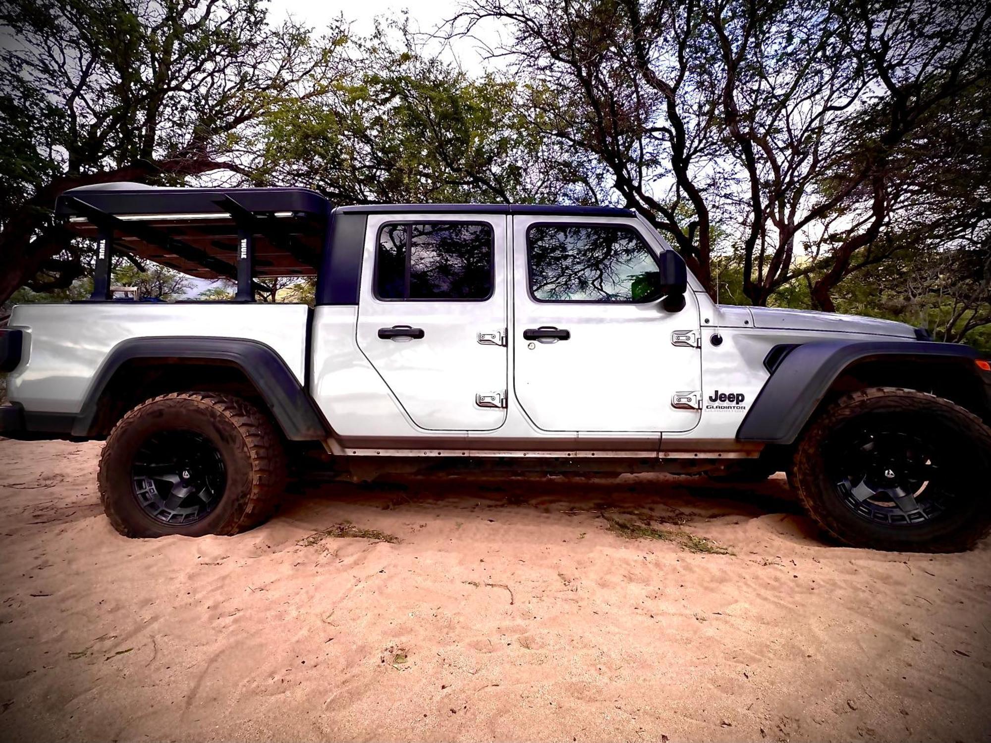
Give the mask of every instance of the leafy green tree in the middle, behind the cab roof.
[[346, 51], [334, 85], [266, 117], [264, 177], [334, 203], [597, 198], [559, 143], [529, 125], [513, 81], [470, 78], [404, 25], [380, 26]]

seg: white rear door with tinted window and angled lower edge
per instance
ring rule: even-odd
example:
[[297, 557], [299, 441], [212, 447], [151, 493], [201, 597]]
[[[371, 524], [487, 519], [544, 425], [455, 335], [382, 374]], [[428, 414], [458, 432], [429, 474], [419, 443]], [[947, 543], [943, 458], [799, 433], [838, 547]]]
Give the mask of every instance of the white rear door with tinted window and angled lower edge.
[[420, 428], [487, 431], [505, 420], [506, 221], [369, 218], [358, 346]]

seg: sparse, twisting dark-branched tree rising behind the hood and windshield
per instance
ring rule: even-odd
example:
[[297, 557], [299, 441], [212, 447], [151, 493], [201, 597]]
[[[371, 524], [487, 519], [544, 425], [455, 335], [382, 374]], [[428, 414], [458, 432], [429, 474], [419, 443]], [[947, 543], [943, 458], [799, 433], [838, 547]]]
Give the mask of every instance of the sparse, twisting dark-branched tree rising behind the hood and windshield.
[[[510, 25], [493, 53], [542, 84], [535, 121], [599, 159], [707, 287], [719, 223], [753, 303], [814, 276], [833, 309], [897, 203], [900, 149], [986, 78], [988, 18], [966, 0], [469, 0], [452, 29]], [[810, 232], [827, 250], [798, 262]]]

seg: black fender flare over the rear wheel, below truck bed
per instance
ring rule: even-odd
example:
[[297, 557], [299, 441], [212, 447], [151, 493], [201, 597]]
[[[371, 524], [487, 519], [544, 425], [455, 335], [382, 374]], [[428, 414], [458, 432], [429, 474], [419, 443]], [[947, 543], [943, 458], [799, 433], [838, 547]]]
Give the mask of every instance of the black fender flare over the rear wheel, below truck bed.
[[290, 441], [319, 441], [330, 435], [320, 411], [285, 361], [264, 343], [242, 338], [162, 336], [134, 338], [114, 346], [90, 382], [72, 435], [92, 434], [100, 397], [114, 374], [135, 359], [202, 360], [222, 362], [244, 372], [269, 406], [282, 433]]

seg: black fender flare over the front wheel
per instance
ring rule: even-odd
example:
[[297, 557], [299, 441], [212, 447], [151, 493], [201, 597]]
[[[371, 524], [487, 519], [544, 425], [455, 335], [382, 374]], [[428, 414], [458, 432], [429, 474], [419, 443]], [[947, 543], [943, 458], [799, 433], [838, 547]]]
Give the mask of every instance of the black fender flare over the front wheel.
[[[773, 353], [773, 350], [772, 350]], [[829, 387], [849, 367], [874, 361], [951, 361], [977, 374], [969, 346], [919, 341], [815, 341], [796, 346], [771, 372], [736, 431], [739, 441], [792, 444]]]

